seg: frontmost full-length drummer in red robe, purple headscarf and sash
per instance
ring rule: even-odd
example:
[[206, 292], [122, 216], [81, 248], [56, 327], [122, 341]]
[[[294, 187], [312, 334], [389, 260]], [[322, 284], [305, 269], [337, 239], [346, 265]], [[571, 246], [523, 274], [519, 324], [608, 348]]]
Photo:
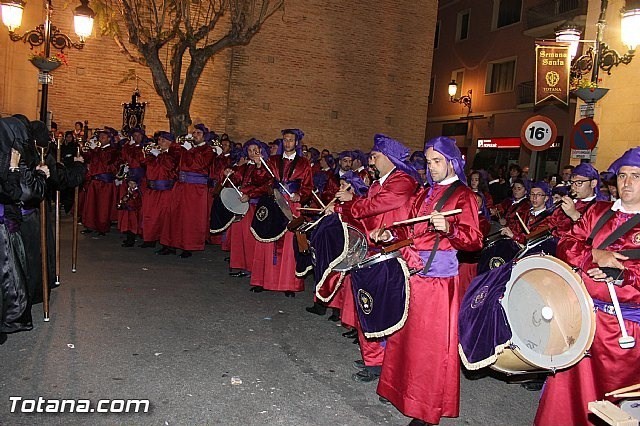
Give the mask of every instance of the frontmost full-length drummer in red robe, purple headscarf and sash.
[[[389, 336], [378, 384], [378, 394], [404, 415], [411, 425], [438, 424], [442, 417], [458, 417], [460, 408], [460, 358], [458, 356], [458, 250], [482, 247], [478, 204], [466, 186], [464, 160], [454, 139], [438, 137], [425, 145], [427, 196], [416, 203], [412, 216], [432, 214], [428, 222], [411, 230], [398, 229], [413, 238], [403, 250], [409, 267], [420, 272], [411, 277], [407, 321]], [[454, 188], [454, 189], [450, 189]], [[440, 211], [462, 209], [443, 216]], [[434, 213], [435, 212], [435, 213]], [[391, 233], [374, 231], [382, 241]]]

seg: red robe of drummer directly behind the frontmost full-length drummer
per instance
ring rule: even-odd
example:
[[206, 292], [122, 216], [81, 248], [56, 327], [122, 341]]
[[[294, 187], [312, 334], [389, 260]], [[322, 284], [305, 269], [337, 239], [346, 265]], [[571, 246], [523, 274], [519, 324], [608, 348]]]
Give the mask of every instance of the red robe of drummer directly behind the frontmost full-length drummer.
[[[369, 236], [371, 231], [383, 225], [391, 225], [395, 221], [407, 219], [411, 206], [420, 193], [419, 184], [411, 176], [395, 169], [382, 185], [379, 181], [374, 182], [366, 198], [354, 198], [352, 201], [336, 206], [335, 211], [343, 214], [349, 222], [351, 220], [358, 222], [356, 228], [364, 232], [369, 247], [375, 247], [376, 243]], [[350, 297], [353, 298], [353, 293]], [[357, 328], [360, 351], [365, 365], [382, 365], [385, 349], [381, 341], [367, 340], [359, 324]]]

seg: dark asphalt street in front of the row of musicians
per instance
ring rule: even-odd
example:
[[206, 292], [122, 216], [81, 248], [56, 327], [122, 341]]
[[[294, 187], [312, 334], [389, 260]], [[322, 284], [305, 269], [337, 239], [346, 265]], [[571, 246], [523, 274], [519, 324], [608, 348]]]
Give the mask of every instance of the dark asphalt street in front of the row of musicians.
[[[122, 248], [121, 237], [80, 236], [70, 272], [63, 217], [62, 286], [51, 321], [0, 345], [0, 424], [403, 425], [375, 384], [351, 380], [358, 348], [343, 328], [294, 299], [251, 293], [208, 246], [189, 259]], [[434, 319], [437, 320], [437, 319]], [[425, 336], [428, 338], [428, 336]], [[438, 368], [437, 365], [425, 368]], [[148, 413], [11, 413], [24, 399], [149, 399]], [[538, 392], [484, 375], [462, 378], [461, 415], [445, 425], [527, 425]]]

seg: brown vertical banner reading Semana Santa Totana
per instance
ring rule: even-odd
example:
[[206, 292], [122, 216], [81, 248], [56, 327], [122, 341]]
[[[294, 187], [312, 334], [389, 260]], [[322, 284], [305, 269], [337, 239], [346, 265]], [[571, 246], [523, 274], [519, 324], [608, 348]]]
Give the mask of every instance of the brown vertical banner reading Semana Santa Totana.
[[570, 71], [571, 55], [568, 44], [555, 41], [536, 42], [535, 105], [553, 99], [569, 105]]

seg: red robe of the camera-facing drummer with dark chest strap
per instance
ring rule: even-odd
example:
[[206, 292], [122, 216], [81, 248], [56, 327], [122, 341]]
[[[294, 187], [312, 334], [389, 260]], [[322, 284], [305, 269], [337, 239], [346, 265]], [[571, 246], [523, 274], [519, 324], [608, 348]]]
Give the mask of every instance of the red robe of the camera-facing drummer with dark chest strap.
[[[284, 194], [294, 216], [299, 216], [299, 208], [311, 198], [313, 181], [309, 160], [298, 157], [296, 167], [291, 171], [294, 160], [284, 160], [282, 156], [271, 156], [269, 169], [276, 179], [282, 182], [299, 181], [300, 189], [296, 192], [300, 202], [294, 203]], [[293, 232], [285, 232], [284, 237], [271, 243], [256, 242], [255, 257], [252, 265], [251, 285], [273, 291], [303, 291], [304, 280], [296, 277], [296, 261], [294, 257]]]

